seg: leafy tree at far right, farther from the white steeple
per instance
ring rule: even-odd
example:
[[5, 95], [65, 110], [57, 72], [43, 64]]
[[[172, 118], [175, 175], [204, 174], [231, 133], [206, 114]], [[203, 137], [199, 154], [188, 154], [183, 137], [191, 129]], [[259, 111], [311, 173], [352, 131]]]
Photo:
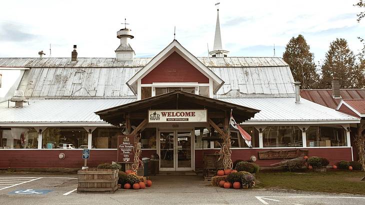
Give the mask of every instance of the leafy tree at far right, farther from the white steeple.
[[356, 64], [355, 55], [343, 38], [337, 38], [329, 45], [322, 64], [320, 87], [331, 88], [333, 76], [338, 78], [341, 88], [362, 88], [364, 86], [363, 74]]

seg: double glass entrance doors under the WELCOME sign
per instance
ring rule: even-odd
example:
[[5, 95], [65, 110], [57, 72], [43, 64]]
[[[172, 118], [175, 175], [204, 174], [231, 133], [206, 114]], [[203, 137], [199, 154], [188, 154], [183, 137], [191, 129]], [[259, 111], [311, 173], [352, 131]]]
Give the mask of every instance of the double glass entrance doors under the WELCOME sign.
[[192, 170], [192, 130], [159, 131], [161, 171]]

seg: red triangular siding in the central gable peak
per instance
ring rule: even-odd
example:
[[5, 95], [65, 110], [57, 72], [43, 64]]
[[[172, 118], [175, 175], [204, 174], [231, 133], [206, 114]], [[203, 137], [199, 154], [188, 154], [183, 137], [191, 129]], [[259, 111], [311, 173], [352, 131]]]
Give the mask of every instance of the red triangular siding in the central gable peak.
[[177, 52], [172, 52], [141, 79], [142, 84], [150, 84], [152, 82], [209, 83], [209, 79]]

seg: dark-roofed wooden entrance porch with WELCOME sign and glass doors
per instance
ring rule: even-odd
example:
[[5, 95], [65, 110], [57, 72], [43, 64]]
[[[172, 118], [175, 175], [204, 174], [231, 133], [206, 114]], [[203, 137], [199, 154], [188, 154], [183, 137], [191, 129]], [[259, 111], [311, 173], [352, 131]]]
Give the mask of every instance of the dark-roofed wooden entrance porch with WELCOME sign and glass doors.
[[231, 109], [237, 123], [259, 111], [175, 90], [95, 113], [106, 122], [122, 128], [123, 134], [134, 135], [136, 143], [141, 142], [141, 130], [155, 127], [155, 151], [160, 157], [160, 170], [189, 171], [195, 170], [196, 136], [202, 138], [204, 130], [210, 133], [205, 138], [227, 135]]

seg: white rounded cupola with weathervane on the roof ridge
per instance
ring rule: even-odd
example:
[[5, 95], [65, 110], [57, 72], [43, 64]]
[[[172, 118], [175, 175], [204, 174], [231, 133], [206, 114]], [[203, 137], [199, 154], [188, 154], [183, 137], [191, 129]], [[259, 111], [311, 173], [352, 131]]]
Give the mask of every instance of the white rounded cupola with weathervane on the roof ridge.
[[134, 36], [130, 34], [130, 31], [130, 29], [124, 27], [116, 32], [116, 37], [120, 39], [120, 45], [115, 50], [116, 60], [133, 60], [135, 53], [128, 40]]

